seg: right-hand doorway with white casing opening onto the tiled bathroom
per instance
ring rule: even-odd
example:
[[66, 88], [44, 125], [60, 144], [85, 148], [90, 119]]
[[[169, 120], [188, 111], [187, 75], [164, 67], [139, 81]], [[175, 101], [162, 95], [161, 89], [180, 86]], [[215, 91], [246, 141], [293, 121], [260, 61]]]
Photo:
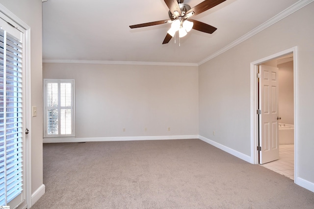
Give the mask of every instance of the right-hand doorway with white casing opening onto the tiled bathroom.
[[[277, 116], [277, 121], [272, 122], [270, 124], [276, 124], [277, 126], [277, 131], [272, 132], [273, 135], [277, 133], [277, 136], [279, 135], [279, 138], [277, 140], [277, 144], [272, 144], [274, 147], [278, 146], [278, 156], [279, 160], [276, 161], [277, 159], [272, 160], [273, 162], [271, 163], [266, 163], [267, 161], [264, 160], [263, 166], [270, 168], [278, 173], [281, 173], [285, 176], [288, 176], [291, 179], [297, 178], [297, 103], [296, 103], [296, 95], [297, 95], [297, 68], [296, 68], [296, 47], [293, 47], [291, 49], [279, 52], [277, 54], [265, 57], [261, 60], [257, 60], [253, 63], [251, 63], [251, 163], [254, 164], [262, 164], [261, 160], [261, 145], [264, 146], [265, 144], [261, 144], [261, 136], [262, 136], [262, 126], [261, 126], [261, 119], [262, 115], [260, 111], [260, 106], [261, 106], [261, 100], [262, 100], [262, 95], [261, 91], [259, 89], [260, 83], [259, 83], [259, 67], [261, 65], [265, 66], [273, 66], [273, 67], [282, 67], [282, 66], [287, 66], [287, 65], [292, 65], [291, 67], [291, 72], [290, 76], [292, 79], [292, 84], [289, 84], [292, 89], [288, 89], [287, 91], [284, 89], [284, 92], [289, 93], [290, 91], [290, 96], [292, 95], [292, 104], [287, 105], [287, 104], [279, 104], [279, 112], [278, 114], [282, 116]], [[291, 75], [292, 74], [292, 75]], [[286, 78], [284, 78], [286, 79]], [[281, 79], [281, 85], [283, 85], [283, 79]], [[283, 85], [285, 88], [287, 85]], [[292, 92], [291, 92], [292, 91]], [[260, 94], [259, 94], [260, 92]], [[282, 92], [282, 91], [281, 91]], [[286, 94], [285, 93], [285, 94]], [[282, 93], [283, 94], [283, 93]], [[284, 95], [285, 96], [285, 95]], [[278, 102], [280, 100], [283, 100], [282, 98], [278, 97]], [[282, 102], [282, 101], [281, 101]], [[287, 109], [287, 106], [289, 108]], [[292, 113], [291, 113], [291, 108], [292, 108]], [[289, 115], [290, 114], [290, 115]], [[289, 116], [288, 116], [289, 115]], [[289, 128], [289, 126], [293, 126], [294, 130], [292, 130], [292, 136], [291, 139], [286, 139], [286, 136], [284, 136], [285, 139], [280, 139], [283, 138], [281, 134], [281, 130], [278, 131], [278, 127], [283, 127], [283, 128]], [[264, 130], [263, 130], [263, 133]], [[279, 134], [278, 134], [279, 133]], [[276, 137], [274, 137], [276, 138]], [[288, 145], [288, 146], [287, 146]], [[291, 150], [292, 147], [292, 150]], [[289, 150], [289, 151], [288, 151]], [[288, 155], [289, 153], [289, 155]], [[289, 161], [289, 162], [283, 162], [283, 161]], [[291, 164], [292, 163], [292, 164]], [[285, 165], [283, 165], [285, 164]], [[280, 166], [282, 165], [282, 166]], [[277, 167], [276, 167], [277, 166]], [[286, 171], [285, 171], [286, 170]], [[291, 175], [291, 172], [293, 173]]]

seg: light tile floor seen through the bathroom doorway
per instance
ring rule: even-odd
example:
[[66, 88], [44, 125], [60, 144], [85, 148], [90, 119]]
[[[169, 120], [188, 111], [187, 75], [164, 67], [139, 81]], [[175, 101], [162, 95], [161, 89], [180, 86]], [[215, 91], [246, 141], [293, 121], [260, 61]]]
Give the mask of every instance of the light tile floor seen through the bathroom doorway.
[[279, 145], [279, 160], [262, 166], [294, 180], [294, 144]]

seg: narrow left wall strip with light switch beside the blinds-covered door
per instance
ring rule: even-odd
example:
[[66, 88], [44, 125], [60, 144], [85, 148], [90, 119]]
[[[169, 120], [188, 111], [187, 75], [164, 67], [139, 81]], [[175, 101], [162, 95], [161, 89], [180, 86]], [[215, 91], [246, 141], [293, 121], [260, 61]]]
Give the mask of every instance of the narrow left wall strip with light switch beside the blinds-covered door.
[[37, 116], [31, 118], [31, 192], [43, 184], [43, 93], [42, 93], [42, 1], [0, 0], [31, 28], [31, 106], [37, 106]]

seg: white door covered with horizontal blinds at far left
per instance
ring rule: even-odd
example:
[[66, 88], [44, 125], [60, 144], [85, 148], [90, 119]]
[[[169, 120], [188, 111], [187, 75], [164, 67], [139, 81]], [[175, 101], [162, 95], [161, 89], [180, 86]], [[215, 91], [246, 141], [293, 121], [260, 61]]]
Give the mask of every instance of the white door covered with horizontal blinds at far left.
[[0, 206], [26, 208], [24, 33], [0, 14]]

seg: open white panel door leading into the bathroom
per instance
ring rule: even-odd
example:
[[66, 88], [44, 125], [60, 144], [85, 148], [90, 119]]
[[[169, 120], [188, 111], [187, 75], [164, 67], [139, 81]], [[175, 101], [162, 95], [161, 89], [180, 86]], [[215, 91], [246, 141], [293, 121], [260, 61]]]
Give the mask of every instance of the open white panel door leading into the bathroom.
[[278, 68], [260, 65], [260, 164], [279, 159]]

